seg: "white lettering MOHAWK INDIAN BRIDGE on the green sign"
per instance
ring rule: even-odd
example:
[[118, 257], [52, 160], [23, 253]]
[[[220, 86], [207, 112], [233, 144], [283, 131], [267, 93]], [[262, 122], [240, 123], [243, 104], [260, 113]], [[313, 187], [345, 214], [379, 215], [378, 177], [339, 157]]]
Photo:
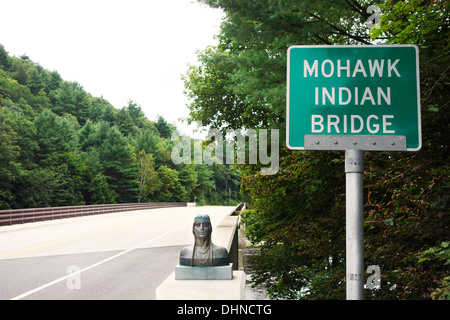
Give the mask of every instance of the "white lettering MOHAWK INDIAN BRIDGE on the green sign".
[[[347, 59], [344, 62], [325, 59], [320, 63], [314, 60], [312, 63], [308, 60], [303, 61], [303, 77], [317, 78], [319, 76], [330, 78], [336, 75], [338, 78], [355, 78], [362, 76], [371, 77], [401, 77], [397, 70], [397, 64], [400, 59], [368, 59], [366, 63], [358, 59], [354, 65]], [[391, 88], [377, 87], [371, 89], [365, 87], [360, 90], [358, 87], [315, 87], [314, 104], [316, 106], [326, 105], [354, 105], [354, 106], [390, 106]], [[365, 119], [357, 114], [352, 115], [333, 115], [326, 117], [318, 114], [311, 115], [312, 133], [360, 133], [366, 129], [371, 134], [382, 132], [383, 134], [394, 134], [395, 130], [391, 128], [394, 115], [383, 115], [381, 117], [371, 114]]]

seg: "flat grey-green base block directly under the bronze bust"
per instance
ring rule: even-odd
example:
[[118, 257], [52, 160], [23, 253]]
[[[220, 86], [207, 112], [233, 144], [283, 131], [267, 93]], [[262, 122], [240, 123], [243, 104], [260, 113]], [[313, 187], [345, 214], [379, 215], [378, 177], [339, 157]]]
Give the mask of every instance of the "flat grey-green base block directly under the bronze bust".
[[190, 267], [178, 265], [175, 267], [175, 280], [231, 280], [233, 279], [233, 264], [227, 266]]

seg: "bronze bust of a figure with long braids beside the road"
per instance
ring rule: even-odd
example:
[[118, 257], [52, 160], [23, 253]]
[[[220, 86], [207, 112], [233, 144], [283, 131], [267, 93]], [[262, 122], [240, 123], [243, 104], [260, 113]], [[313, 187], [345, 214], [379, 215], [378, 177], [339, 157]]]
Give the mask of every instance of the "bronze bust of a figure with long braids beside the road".
[[182, 266], [226, 266], [228, 250], [216, 246], [211, 241], [212, 226], [209, 215], [198, 215], [194, 219], [192, 233], [195, 241], [192, 246], [181, 249], [180, 265]]

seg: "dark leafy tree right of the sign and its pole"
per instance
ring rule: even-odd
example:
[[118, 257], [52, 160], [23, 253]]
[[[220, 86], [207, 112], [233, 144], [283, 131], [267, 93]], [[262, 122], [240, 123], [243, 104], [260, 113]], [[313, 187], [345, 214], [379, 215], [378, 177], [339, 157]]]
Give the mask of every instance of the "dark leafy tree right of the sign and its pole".
[[412, 156], [373, 159], [366, 177], [367, 233], [372, 241], [367, 254], [385, 266], [382, 281], [391, 284], [382, 289], [386, 297], [395, 293], [402, 299], [430, 298], [440, 285], [445, 289], [448, 276], [444, 259], [423, 257], [448, 240], [450, 4], [386, 1], [381, 8], [380, 28], [373, 29], [372, 36], [420, 49], [423, 146]]

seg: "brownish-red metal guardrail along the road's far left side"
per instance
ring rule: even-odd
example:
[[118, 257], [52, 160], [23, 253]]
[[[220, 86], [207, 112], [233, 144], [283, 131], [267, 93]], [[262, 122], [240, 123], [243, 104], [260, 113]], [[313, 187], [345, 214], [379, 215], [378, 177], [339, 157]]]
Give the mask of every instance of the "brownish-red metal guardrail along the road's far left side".
[[114, 212], [186, 206], [186, 202], [149, 202], [0, 210], [0, 226]]

